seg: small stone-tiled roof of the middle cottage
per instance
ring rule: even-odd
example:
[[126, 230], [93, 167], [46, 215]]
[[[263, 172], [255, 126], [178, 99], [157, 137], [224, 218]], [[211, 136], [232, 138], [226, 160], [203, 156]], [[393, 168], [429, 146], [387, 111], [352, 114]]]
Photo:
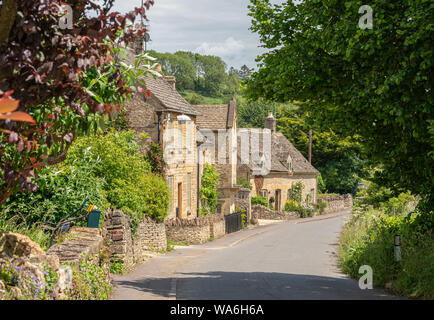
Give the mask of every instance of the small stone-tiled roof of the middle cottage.
[[199, 114], [196, 123], [200, 129], [229, 129], [234, 125], [235, 100], [229, 104], [215, 105], [194, 105], [194, 109]]

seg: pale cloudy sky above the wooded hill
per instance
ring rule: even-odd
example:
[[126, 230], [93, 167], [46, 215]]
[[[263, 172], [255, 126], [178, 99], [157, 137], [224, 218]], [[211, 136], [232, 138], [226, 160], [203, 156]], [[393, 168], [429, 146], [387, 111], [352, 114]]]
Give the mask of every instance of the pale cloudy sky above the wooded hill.
[[[249, 0], [155, 0], [147, 13], [151, 42], [158, 52], [192, 51], [221, 57], [228, 68], [246, 64], [264, 53], [259, 37], [249, 30]], [[141, 0], [117, 0], [122, 13], [138, 7]]]

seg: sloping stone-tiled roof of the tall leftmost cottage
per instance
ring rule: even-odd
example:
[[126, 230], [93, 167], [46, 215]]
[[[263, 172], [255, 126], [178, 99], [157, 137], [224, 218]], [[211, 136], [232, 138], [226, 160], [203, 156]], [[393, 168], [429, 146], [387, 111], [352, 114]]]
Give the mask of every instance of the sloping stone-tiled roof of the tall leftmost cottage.
[[[127, 48], [126, 62], [134, 64], [135, 53], [132, 48]], [[147, 76], [143, 79], [146, 87], [151, 91], [168, 111], [175, 111], [188, 115], [196, 115], [194, 108], [163, 78]]]

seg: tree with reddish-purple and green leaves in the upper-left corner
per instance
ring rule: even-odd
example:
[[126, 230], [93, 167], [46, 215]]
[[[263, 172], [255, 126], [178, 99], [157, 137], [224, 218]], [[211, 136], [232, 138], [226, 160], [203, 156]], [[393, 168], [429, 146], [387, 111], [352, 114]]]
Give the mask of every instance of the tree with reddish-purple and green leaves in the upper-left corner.
[[[20, 101], [18, 111], [30, 114], [36, 123], [0, 119], [0, 204], [18, 188], [35, 190], [34, 169], [62, 161], [75, 136], [98, 123], [98, 115], [112, 110], [107, 101], [98, 101], [91, 86], [80, 85], [86, 73], [92, 76], [90, 69], [105, 74], [106, 66], [115, 64], [110, 83], [118, 95], [132, 93], [114, 61], [112, 43], [128, 44], [143, 36], [146, 30], [140, 26], [121, 31], [137, 15], [146, 17], [145, 8], [153, 1], [126, 15], [110, 13], [113, 2], [1, 2], [0, 91], [13, 91]], [[72, 29], [60, 28], [63, 3], [73, 9]]]

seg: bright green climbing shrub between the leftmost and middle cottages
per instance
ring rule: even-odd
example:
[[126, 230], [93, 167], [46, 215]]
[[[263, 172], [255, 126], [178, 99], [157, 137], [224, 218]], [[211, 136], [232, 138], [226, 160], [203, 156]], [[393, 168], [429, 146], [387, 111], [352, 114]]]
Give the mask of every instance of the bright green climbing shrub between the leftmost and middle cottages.
[[202, 174], [202, 182], [200, 185], [200, 199], [203, 203], [200, 208], [202, 216], [213, 214], [215, 212], [218, 198], [218, 184], [219, 174], [217, 173], [217, 170], [207, 163]]

